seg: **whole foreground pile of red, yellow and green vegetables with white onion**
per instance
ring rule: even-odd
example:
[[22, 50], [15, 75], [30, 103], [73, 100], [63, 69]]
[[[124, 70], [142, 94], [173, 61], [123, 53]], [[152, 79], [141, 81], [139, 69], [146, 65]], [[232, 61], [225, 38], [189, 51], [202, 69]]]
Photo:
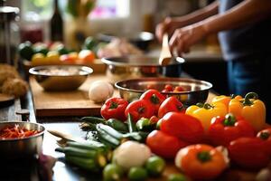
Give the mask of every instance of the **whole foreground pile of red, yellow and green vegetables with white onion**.
[[[124, 173], [130, 180], [144, 180], [156, 175], [149, 159], [164, 167], [162, 157], [174, 159], [185, 176], [204, 180], [220, 176], [229, 164], [260, 169], [270, 163], [271, 129], [265, 125], [265, 104], [254, 92], [245, 98], [217, 96], [184, 109], [176, 97], [146, 90], [132, 102], [107, 99], [100, 114], [82, 118], [80, 128], [110, 150], [104, 157], [113, 152], [103, 170], [105, 180], [120, 180]], [[159, 170], [157, 176], [164, 168]], [[168, 177], [178, 178], [185, 180], [182, 174]]]

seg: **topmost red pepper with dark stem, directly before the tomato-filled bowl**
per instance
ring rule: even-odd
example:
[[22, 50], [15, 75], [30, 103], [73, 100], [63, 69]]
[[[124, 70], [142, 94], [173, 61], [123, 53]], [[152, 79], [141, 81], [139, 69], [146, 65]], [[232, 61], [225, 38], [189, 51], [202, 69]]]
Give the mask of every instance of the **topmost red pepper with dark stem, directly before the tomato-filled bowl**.
[[139, 100], [147, 100], [154, 107], [154, 113], [157, 114], [162, 102], [165, 100], [164, 95], [158, 90], [146, 90]]

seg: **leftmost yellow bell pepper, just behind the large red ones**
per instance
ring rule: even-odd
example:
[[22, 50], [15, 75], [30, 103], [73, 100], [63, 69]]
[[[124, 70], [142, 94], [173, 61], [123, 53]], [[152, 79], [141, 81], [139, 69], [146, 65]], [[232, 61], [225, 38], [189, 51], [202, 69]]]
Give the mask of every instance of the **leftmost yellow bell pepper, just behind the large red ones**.
[[201, 121], [201, 124], [205, 131], [210, 127], [210, 120], [213, 117], [225, 117], [228, 113], [227, 107], [221, 102], [209, 103], [198, 103], [187, 108], [185, 114], [189, 114]]

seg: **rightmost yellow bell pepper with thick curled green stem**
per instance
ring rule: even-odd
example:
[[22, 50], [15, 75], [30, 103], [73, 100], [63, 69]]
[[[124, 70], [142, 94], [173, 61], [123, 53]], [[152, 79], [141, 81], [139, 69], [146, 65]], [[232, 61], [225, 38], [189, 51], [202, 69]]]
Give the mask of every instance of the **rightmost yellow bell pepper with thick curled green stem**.
[[266, 125], [266, 106], [262, 100], [258, 100], [255, 92], [247, 93], [243, 100], [230, 100], [229, 113], [236, 117], [243, 117], [257, 131], [264, 129]]

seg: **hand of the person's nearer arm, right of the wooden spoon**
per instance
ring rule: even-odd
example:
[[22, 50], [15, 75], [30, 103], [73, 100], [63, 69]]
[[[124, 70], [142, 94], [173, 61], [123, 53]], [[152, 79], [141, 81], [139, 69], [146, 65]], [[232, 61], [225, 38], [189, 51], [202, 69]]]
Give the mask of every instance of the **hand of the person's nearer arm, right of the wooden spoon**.
[[176, 52], [182, 57], [183, 52], [189, 52], [194, 43], [198, 43], [207, 35], [202, 24], [192, 24], [183, 28], [176, 29], [170, 39], [171, 52]]

